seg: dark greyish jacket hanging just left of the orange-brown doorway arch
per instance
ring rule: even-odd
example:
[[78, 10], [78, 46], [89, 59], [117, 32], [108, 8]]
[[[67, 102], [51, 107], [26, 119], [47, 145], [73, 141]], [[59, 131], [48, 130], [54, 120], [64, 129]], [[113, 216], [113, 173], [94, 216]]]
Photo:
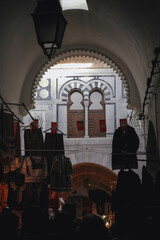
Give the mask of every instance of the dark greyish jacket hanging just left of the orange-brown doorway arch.
[[73, 167], [70, 158], [57, 155], [51, 167], [50, 189], [56, 192], [72, 191]]

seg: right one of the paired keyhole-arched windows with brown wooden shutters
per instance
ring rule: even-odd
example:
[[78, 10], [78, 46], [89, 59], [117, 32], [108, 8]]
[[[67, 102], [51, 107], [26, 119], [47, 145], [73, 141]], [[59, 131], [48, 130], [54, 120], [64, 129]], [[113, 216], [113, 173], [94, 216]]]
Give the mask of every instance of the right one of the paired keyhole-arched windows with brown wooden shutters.
[[89, 96], [88, 134], [89, 137], [106, 136], [104, 95], [97, 89]]

